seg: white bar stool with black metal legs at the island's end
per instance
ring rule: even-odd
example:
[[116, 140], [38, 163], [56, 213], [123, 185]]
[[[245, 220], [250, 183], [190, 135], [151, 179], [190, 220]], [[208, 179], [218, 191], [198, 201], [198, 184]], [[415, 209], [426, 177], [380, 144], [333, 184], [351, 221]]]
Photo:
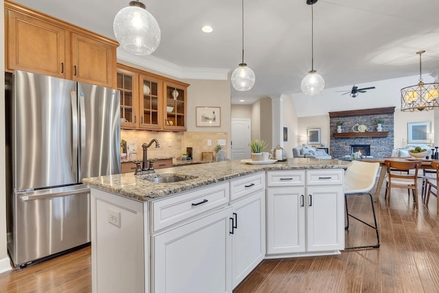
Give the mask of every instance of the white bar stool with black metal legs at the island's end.
[[[344, 228], [346, 230], [349, 228], [349, 218], [351, 217], [375, 230], [375, 233], [377, 234], [377, 244], [346, 247], [344, 248], [345, 250], [356, 249], [356, 248], [379, 248], [377, 215], [375, 215], [373, 198], [372, 198], [372, 194], [370, 194], [370, 190], [375, 185], [375, 181], [377, 180], [378, 169], [379, 169], [379, 163], [368, 163], [361, 161], [353, 161], [351, 165], [349, 165], [348, 169], [346, 169], [346, 173], [344, 174], [344, 202], [346, 205], [347, 221], [346, 221], [346, 226]], [[372, 226], [371, 224], [365, 222], [364, 220], [361, 220], [357, 218], [355, 215], [349, 213], [348, 196], [369, 196], [375, 226]]]

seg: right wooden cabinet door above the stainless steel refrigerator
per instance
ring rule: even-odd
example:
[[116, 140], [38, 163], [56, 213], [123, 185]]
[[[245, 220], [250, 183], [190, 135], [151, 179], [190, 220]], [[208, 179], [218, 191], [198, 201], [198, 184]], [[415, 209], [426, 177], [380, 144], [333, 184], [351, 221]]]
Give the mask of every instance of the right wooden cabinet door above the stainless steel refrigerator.
[[112, 87], [115, 47], [74, 33], [71, 44], [72, 79]]

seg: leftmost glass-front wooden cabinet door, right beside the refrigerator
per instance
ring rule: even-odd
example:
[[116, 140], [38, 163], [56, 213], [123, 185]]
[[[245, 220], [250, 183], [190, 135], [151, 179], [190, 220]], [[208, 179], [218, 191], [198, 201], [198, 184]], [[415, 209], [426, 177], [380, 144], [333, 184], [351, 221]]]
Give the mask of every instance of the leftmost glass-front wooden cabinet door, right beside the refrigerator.
[[117, 69], [117, 89], [121, 93], [121, 128], [137, 128], [139, 75]]

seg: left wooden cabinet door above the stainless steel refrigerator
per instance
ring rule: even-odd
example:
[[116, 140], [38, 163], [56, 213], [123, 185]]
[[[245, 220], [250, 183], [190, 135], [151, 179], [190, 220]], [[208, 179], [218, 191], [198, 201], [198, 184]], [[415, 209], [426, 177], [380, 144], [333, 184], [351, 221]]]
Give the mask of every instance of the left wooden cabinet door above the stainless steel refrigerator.
[[12, 10], [5, 13], [6, 67], [65, 78], [65, 30]]

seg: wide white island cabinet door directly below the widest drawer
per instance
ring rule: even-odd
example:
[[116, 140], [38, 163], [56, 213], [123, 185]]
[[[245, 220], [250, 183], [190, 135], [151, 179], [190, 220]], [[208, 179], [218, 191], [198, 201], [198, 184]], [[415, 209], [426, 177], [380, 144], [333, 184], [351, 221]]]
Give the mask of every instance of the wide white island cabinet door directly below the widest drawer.
[[153, 235], [152, 292], [231, 293], [230, 215], [227, 207]]

